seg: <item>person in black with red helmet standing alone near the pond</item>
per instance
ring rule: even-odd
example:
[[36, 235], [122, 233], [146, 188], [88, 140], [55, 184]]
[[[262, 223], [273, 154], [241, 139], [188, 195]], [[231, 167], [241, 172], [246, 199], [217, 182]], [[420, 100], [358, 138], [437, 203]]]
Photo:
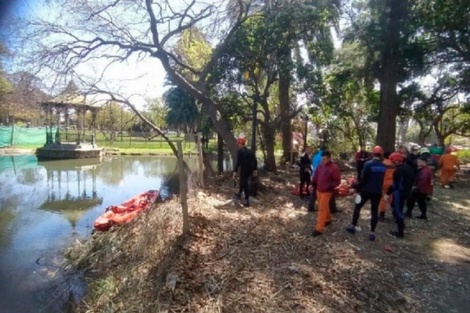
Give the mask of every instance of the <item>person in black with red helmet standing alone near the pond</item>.
[[256, 177], [258, 175], [258, 161], [256, 156], [248, 149], [246, 145], [246, 139], [240, 137], [237, 139], [238, 152], [237, 152], [237, 162], [235, 163], [235, 169], [233, 170], [233, 179], [236, 179], [237, 172], [240, 170], [240, 183], [238, 188], [238, 193], [235, 193], [237, 198], [241, 197], [241, 193], [245, 194], [245, 202], [243, 205], [246, 207], [250, 206], [250, 190], [248, 180], [251, 176]]

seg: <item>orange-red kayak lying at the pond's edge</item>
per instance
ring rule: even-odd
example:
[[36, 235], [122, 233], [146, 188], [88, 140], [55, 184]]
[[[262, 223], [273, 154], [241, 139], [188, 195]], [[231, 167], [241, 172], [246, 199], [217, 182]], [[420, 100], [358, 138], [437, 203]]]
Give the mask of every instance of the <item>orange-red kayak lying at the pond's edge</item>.
[[107, 231], [113, 225], [129, 223], [140, 212], [150, 208], [157, 201], [158, 196], [157, 190], [149, 190], [132, 197], [120, 205], [110, 205], [106, 208], [105, 213], [95, 220], [93, 226], [96, 230]]

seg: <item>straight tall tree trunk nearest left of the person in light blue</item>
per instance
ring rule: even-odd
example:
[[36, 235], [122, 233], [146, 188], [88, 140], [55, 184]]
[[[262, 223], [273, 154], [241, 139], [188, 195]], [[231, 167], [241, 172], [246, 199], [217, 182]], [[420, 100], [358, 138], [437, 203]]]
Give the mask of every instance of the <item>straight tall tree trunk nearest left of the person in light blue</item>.
[[279, 109], [281, 117], [281, 134], [282, 134], [282, 162], [290, 160], [292, 150], [292, 127], [290, 112], [290, 49], [283, 47], [278, 53], [279, 58]]

